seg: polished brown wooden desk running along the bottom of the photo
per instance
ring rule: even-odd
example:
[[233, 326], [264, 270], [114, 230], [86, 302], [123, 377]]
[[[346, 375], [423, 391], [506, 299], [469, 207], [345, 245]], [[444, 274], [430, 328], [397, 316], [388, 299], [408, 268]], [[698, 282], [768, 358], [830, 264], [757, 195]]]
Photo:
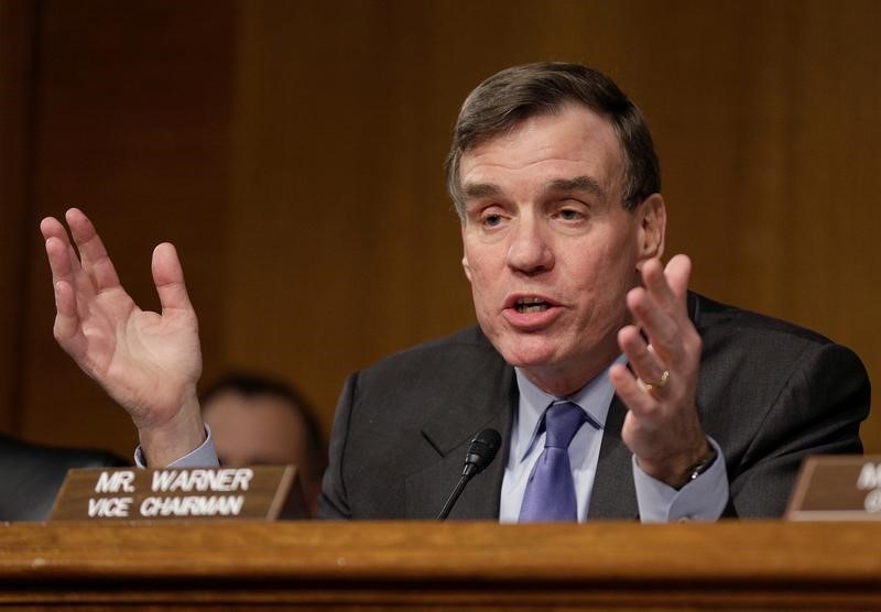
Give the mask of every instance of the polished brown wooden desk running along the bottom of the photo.
[[881, 609], [881, 523], [0, 524], [0, 605]]

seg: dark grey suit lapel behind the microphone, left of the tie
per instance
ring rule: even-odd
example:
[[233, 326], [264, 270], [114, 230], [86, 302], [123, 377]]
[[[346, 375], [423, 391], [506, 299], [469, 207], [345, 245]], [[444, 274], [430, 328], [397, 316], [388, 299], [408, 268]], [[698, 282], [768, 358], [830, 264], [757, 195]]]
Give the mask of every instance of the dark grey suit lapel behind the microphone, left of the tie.
[[432, 446], [437, 460], [406, 479], [406, 515], [411, 518], [437, 516], [461, 476], [469, 442], [488, 427], [501, 434], [502, 447], [492, 463], [465, 489], [449, 518], [499, 517], [511, 429], [513, 368], [493, 353], [476, 370], [453, 402], [438, 406], [424, 422], [423, 442]]

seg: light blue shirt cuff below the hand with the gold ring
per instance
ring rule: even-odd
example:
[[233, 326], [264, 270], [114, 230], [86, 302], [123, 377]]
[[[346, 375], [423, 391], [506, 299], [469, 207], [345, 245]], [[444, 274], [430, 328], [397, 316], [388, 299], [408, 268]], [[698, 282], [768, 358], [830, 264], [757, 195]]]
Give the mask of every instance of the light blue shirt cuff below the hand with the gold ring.
[[713, 466], [679, 490], [643, 472], [633, 456], [633, 482], [637, 504], [643, 523], [676, 521], [717, 521], [728, 503], [728, 471], [725, 456], [716, 440], [707, 436], [716, 449]]

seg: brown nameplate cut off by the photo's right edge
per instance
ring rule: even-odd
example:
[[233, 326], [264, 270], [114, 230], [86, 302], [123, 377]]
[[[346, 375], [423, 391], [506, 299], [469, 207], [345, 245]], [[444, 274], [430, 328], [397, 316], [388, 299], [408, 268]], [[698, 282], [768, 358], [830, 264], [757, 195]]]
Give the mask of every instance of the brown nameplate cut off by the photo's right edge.
[[795, 481], [790, 521], [881, 520], [881, 456], [808, 457]]

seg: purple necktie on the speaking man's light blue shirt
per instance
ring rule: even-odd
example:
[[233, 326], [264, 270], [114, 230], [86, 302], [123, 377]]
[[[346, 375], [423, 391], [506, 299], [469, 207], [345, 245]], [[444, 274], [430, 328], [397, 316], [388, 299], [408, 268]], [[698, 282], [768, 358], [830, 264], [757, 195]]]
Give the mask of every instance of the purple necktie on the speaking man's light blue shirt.
[[572, 402], [553, 404], [545, 411], [544, 451], [526, 483], [520, 523], [578, 520], [568, 448], [585, 420], [585, 412]]

